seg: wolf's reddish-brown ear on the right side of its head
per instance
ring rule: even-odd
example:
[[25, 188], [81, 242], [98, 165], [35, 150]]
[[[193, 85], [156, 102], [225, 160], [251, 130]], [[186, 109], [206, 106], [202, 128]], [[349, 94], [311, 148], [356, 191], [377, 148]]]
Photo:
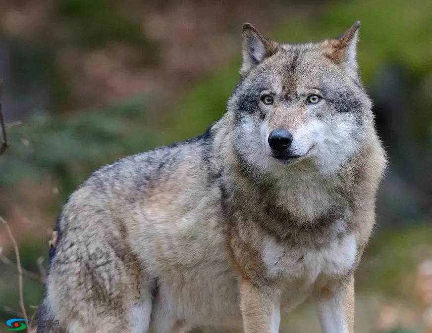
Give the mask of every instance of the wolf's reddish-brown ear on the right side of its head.
[[357, 42], [359, 38], [360, 21], [336, 39], [324, 41], [325, 55], [345, 70], [357, 72]]

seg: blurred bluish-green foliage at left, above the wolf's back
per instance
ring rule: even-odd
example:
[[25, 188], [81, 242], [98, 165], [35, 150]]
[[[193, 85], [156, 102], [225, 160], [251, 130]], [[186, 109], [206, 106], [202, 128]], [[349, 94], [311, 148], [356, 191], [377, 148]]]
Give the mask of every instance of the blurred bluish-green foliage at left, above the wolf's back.
[[88, 174], [116, 158], [147, 150], [160, 140], [146, 128], [147, 100], [54, 117], [33, 114], [9, 131], [0, 159], [0, 187], [54, 174], [64, 199]]

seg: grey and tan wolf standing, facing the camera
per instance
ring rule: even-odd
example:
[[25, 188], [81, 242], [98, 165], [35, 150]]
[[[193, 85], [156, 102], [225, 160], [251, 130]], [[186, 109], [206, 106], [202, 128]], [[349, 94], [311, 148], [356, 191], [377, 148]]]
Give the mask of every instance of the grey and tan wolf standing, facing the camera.
[[310, 297], [325, 333], [352, 333], [386, 166], [358, 29], [283, 44], [245, 23], [220, 120], [104, 166], [70, 195], [40, 318], [68, 333], [277, 333]]

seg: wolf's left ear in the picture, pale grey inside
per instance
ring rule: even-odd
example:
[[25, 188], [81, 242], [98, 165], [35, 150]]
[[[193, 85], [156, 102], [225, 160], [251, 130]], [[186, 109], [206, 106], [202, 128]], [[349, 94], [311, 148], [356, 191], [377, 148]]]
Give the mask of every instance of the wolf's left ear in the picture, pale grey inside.
[[243, 24], [243, 64], [240, 75], [244, 77], [253, 67], [274, 54], [278, 44], [261, 35], [250, 23]]

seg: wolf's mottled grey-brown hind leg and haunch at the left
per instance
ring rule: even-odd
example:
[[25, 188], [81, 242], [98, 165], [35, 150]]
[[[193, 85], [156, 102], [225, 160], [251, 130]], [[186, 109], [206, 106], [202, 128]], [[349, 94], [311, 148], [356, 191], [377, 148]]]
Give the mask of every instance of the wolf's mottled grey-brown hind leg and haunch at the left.
[[[99, 227], [102, 217], [90, 225]], [[152, 311], [149, 279], [122, 229], [113, 222], [104, 230], [74, 228], [60, 241], [46, 304], [68, 333], [146, 333]]]

